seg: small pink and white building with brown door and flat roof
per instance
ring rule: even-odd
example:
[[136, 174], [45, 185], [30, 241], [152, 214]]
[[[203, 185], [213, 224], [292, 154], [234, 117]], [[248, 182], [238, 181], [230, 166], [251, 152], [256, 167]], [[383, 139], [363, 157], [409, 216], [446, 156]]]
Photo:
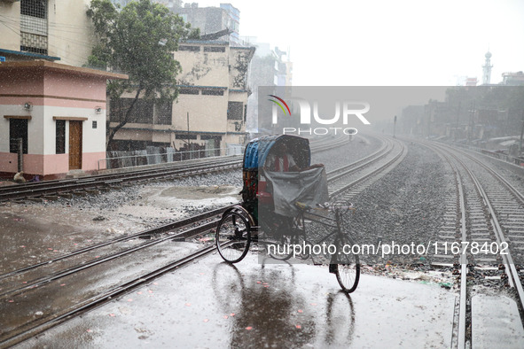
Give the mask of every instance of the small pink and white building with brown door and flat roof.
[[[0, 64], [0, 173], [46, 179], [106, 158], [106, 80], [127, 75], [43, 60]], [[101, 161], [100, 166], [105, 166]]]

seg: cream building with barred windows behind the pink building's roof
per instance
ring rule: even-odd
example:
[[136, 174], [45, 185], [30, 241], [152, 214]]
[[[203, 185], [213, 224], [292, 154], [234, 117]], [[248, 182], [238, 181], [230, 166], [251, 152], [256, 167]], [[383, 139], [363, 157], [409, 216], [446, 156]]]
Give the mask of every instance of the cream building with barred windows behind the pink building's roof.
[[0, 56], [86, 63], [94, 44], [90, 0], [0, 0]]

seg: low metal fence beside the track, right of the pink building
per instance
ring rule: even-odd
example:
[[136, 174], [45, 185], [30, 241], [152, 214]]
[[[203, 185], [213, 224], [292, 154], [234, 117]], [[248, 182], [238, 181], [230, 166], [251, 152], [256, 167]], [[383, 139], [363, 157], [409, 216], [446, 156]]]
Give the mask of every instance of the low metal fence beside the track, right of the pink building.
[[[98, 170], [101, 168], [114, 169], [139, 167], [192, 159], [241, 155], [243, 151], [243, 147], [241, 146], [229, 146], [227, 148], [213, 148], [196, 151], [176, 151], [174, 148], [148, 146], [145, 150], [140, 151], [107, 151], [107, 158], [98, 160]], [[104, 167], [104, 165], [106, 166]]]

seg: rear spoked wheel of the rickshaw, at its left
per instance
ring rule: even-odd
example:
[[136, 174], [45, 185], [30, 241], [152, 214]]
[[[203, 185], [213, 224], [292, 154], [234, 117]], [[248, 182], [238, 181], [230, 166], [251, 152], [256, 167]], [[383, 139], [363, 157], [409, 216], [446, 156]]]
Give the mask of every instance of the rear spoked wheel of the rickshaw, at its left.
[[216, 248], [223, 260], [237, 263], [246, 257], [251, 244], [251, 231], [246, 213], [230, 211], [216, 227]]

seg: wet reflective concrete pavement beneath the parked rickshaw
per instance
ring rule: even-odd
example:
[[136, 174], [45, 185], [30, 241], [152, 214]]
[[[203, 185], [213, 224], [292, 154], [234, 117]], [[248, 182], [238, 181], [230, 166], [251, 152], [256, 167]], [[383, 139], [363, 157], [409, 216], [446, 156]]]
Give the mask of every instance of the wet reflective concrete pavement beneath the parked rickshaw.
[[456, 294], [326, 267], [235, 266], [215, 253], [19, 345], [34, 347], [450, 347]]

